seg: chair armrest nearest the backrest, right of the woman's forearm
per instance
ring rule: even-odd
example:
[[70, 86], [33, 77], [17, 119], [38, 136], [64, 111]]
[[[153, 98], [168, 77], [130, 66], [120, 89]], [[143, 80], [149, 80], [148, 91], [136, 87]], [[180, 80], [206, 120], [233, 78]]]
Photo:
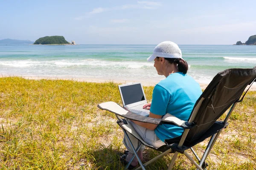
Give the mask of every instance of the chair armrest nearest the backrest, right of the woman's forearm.
[[177, 125], [179, 127], [182, 127], [183, 129], [190, 129], [193, 125], [189, 125], [188, 121], [181, 120], [169, 113], [167, 113], [165, 116], [162, 118], [162, 124], [171, 124], [171, 125]]

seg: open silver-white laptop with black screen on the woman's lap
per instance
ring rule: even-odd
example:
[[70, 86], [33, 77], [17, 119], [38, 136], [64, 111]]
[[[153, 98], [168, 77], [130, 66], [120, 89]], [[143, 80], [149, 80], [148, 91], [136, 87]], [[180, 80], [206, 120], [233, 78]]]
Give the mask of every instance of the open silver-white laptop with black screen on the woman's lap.
[[143, 109], [148, 102], [140, 82], [118, 85], [118, 88], [125, 109], [142, 116], [149, 116], [149, 110]]

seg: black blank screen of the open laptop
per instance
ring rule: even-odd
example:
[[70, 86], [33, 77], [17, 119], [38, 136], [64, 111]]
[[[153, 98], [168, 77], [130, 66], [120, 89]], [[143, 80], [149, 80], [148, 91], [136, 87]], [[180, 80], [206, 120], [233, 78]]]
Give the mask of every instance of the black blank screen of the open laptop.
[[140, 84], [120, 87], [125, 105], [145, 100]]

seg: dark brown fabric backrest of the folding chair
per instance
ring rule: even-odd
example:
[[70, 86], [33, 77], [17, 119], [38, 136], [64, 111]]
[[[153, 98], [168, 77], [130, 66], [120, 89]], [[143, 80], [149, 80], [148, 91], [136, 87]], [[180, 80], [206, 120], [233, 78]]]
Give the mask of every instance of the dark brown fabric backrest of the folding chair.
[[[195, 126], [189, 130], [184, 145], [188, 146], [201, 138], [215, 124], [219, 117], [239, 101], [247, 85], [256, 79], [256, 67], [252, 69], [231, 68], [218, 73], [199, 97], [193, 111], [200, 105], [195, 116]], [[202, 101], [203, 102], [200, 102]], [[192, 111], [192, 112], [193, 112]], [[180, 136], [166, 140], [168, 143], [177, 142]]]

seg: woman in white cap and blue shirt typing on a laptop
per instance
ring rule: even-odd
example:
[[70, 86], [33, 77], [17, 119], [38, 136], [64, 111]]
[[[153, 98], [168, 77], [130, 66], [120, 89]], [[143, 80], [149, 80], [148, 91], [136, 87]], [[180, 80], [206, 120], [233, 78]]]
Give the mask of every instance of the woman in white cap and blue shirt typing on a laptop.
[[[161, 42], [154, 48], [153, 54], [147, 60], [149, 62], [154, 60], [157, 74], [165, 76], [166, 79], [154, 87], [152, 102], [143, 108], [150, 110], [149, 117], [152, 118], [160, 119], [166, 113], [170, 113], [187, 121], [202, 91], [200, 85], [186, 74], [188, 64], [182, 58], [180, 48], [171, 41]], [[157, 148], [165, 144], [165, 139], [175, 138], [183, 133], [183, 128], [176, 125], [154, 125], [134, 120], [128, 121], [146, 143]], [[129, 137], [136, 149], [140, 142], [130, 134]], [[134, 153], [126, 138], [124, 138], [123, 143], [128, 152], [122, 155], [121, 160], [127, 163]], [[141, 160], [143, 160], [144, 147], [143, 145], [138, 151]], [[135, 157], [131, 162], [131, 167], [136, 167], [137, 164], [138, 161]]]

